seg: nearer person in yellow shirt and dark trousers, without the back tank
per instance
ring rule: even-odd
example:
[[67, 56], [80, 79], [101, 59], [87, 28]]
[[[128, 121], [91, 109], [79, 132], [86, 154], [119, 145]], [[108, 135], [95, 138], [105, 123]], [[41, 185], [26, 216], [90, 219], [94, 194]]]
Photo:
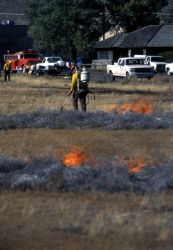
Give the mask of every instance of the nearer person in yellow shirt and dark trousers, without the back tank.
[[72, 79], [71, 79], [71, 89], [67, 96], [73, 94], [73, 108], [78, 110], [78, 99], [80, 100], [80, 105], [82, 111], [86, 112], [86, 96], [88, 94], [87, 88], [79, 88], [80, 74], [77, 68], [72, 69]]

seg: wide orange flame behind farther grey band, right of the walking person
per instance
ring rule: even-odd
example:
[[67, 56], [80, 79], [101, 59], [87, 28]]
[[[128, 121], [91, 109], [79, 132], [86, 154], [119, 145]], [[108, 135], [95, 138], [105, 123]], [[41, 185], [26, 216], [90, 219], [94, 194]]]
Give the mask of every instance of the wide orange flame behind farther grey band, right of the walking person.
[[118, 113], [136, 112], [136, 113], [152, 113], [153, 107], [149, 100], [138, 99], [132, 103], [124, 103], [122, 105], [110, 106], [109, 111]]

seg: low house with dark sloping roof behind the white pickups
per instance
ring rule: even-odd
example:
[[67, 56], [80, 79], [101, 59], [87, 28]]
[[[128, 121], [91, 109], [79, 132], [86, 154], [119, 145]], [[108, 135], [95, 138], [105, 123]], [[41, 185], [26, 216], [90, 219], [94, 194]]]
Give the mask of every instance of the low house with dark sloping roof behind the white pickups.
[[94, 45], [97, 60], [116, 61], [135, 54], [158, 55], [173, 51], [173, 24], [149, 25], [130, 33], [119, 33]]

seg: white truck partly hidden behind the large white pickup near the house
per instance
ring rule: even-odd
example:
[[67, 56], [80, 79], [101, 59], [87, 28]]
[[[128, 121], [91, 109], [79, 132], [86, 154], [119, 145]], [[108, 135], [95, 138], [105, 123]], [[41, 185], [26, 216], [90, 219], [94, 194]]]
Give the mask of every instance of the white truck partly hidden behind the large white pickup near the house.
[[134, 57], [144, 58], [145, 64], [152, 66], [155, 72], [165, 72], [166, 59], [163, 56], [135, 55]]

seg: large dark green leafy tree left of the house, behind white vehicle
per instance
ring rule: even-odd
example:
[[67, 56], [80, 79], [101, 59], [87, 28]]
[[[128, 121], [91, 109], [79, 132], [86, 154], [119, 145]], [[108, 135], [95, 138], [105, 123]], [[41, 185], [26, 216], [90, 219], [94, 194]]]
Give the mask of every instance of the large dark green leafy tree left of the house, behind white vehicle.
[[88, 52], [102, 34], [102, 9], [97, 0], [26, 1], [35, 48], [72, 57]]

